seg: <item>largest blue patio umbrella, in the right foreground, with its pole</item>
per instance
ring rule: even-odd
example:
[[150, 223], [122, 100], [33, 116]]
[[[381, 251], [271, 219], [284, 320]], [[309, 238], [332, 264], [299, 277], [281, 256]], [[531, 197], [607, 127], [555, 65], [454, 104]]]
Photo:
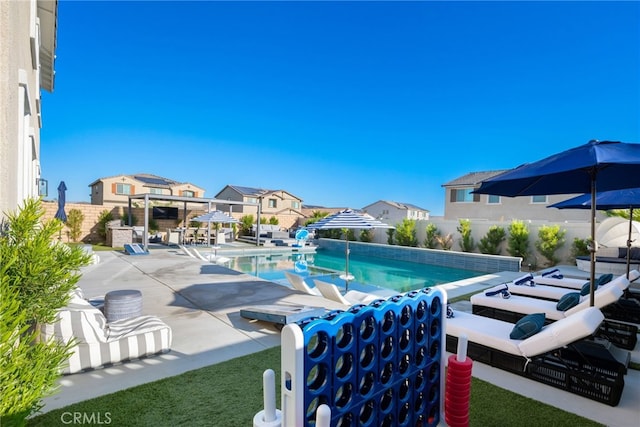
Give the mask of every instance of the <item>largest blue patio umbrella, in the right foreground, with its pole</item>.
[[591, 292], [594, 303], [596, 188], [640, 187], [640, 144], [589, 141], [483, 181], [474, 193], [506, 197], [589, 193], [591, 195]]

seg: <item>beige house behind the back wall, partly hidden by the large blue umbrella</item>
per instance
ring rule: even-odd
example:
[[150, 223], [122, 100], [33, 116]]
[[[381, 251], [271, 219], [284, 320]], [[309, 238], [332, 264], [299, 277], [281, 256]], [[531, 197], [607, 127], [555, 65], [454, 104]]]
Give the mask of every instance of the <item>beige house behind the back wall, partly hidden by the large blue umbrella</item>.
[[482, 181], [503, 172], [506, 170], [470, 172], [443, 184], [444, 218], [489, 221], [514, 219], [549, 222], [589, 221], [589, 210], [548, 208], [549, 205], [574, 197], [576, 194], [503, 197], [472, 193]]

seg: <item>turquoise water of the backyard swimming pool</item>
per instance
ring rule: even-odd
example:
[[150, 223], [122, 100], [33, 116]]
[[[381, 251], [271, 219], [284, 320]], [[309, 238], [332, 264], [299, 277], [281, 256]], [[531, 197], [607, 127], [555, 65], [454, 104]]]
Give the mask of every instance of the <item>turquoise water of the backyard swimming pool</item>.
[[[345, 256], [342, 252], [328, 251], [311, 254], [243, 256], [232, 258], [230, 268], [281, 284], [288, 283], [284, 271], [291, 271], [305, 279], [313, 277], [344, 286], [344, 280], [340, 279], [339, 275], [344, 274]], [[374, 286], [397, 292], [422, 289], [486, 274], [358, 255], [349, 257], [349, 273], [354, 276], [353, 281], [349, 283], [351, 289]], [[307, 282], [311, 284], [310, 280]]]

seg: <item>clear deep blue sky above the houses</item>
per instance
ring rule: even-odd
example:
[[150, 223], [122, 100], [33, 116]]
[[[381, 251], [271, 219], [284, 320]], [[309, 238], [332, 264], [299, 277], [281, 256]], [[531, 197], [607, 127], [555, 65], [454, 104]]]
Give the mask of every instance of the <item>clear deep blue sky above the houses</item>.
[[444, 213], [442, 184], [640, 142], [639, 2], [61, 0], [42, 175]]

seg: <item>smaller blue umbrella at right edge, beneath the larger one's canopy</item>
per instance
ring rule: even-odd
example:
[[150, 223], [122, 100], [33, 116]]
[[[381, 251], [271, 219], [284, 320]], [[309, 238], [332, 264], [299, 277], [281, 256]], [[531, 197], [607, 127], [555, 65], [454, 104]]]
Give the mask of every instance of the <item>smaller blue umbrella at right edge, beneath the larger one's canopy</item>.
[[[583, 194], [562, 202], [547, 206], [558, 209], [591, 209], [591, 194]], [[631, 243], [633, 243], [633, 209], [640, 208], [640, 188], [602, 191], [596, 194], [596, 209], [629, 209], [629, 237], [627, 238], [627, 278], [631, 267]]]

